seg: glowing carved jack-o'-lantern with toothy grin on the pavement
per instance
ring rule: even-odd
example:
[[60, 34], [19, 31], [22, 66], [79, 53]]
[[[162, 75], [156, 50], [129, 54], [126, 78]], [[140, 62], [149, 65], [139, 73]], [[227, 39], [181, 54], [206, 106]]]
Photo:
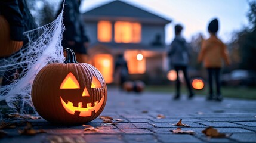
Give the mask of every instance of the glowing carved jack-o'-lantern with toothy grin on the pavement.
[[106, 82], [94, 66], [77, 63], [72, 49], [66, 51], [64, 63], [48, 64], [35, 77], [33, 105], [50, 122], [90, 122], [106, 105]]

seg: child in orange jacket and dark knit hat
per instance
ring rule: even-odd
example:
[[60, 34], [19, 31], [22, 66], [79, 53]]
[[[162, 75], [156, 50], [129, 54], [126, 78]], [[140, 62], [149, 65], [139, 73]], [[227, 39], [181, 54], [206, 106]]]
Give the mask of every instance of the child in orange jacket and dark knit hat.
[[[207, 100], [221, 101], [223, 99], [220, 90], [220, 69], [222, 66], [222, 60], [226, 65], [229, 65], [229, 58], [227, 54], [227, 47], [224, 43], [218, 39], [218, 20], [215, 18], [209, 23], [208, 32], [210, 37], [202, 42], [202, 49], [198, 56], [198, 61], [203, 61], [205, 68], [208, 70], [208, 82], [209, 82], [209, 95]], [[216, 83], [216, 96], [212, 88], [213, 78]]]

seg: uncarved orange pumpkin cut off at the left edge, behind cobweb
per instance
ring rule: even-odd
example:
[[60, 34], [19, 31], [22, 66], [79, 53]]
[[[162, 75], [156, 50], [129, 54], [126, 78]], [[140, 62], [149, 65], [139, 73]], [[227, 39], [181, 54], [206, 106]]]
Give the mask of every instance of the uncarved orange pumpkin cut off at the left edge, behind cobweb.
[[10, 56], [23, 46], [23, 41], [13, 41], [10, 39], [9, 24], [2, 15], [0, 15], [0, 45], [0, 57]]

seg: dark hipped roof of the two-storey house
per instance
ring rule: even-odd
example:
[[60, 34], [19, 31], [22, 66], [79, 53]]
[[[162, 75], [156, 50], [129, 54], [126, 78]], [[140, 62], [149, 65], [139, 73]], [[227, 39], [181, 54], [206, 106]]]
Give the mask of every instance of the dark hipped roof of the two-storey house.
[[96, 7], [90, 11], [85, 12], [83, 15], [84, 20], [86, 21], [124, 20], [158, 24], [168, 24], [171, 22], [171, 20], [135, 7], [134, 5], [127, 4], [123, 1], [109, 2], [107, 4], [101, 5], [100, 7]]

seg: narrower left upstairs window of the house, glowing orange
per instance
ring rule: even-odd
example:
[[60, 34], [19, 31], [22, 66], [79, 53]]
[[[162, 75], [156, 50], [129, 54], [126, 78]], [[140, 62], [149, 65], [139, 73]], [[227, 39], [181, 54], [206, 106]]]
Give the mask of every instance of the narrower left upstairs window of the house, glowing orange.
[[112, 41], [112, 24], [110, 21], [98, 22], [98, 41], [111, 42]]

